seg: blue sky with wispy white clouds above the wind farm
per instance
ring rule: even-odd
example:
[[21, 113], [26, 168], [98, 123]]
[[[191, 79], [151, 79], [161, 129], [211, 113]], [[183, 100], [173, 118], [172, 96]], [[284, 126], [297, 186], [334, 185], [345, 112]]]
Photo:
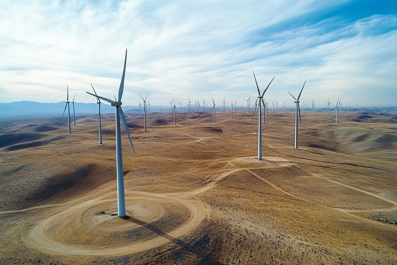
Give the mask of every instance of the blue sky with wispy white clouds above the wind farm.
[[[397, 106], [397, 0], [0, 0], [0, 102]], [[69, 98], [70, 99], [70, 98]], [[142, 99], [141, 99], [142, 101]], [[233, 104], [234, 104], [233, 102]], [[230, 102], [229, 102], [230, 104]]]

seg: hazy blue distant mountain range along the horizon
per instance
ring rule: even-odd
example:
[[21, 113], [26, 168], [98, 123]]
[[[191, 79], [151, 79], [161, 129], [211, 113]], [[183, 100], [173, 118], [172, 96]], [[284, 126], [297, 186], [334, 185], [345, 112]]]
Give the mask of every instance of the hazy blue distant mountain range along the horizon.
[[[39, 103], [35, 101], [17, 101], [11, 103], [0, 103], [0, 117], [5, 118], [9, 116], [62, 116], [65, 108], [65, 101], [58, 103]], [[98, 113], [98, 104], [96, 103], [74, 103], [75, 105], [75, 113], [76, 115], [89, 115]], [[160, 112], [160, 106], [148, 106], [148, 111], [150, 108], [150, 112]], [[209, 107], [209, 111], [211, 111], [212, 107]], [[218, 110], [218, 106], [216, 106], [216, 110]], [[187, 112], [188, 106], [179, 106], [177, 108], [178, 112], [182, 109], [183, 112]], [[254, 106], [251, 107], [251, 110], [254, 109]], [[194, 104], [190, 105], [190, 110], [196, 110], [196, 106]], [[220, 110], [220, 108], [219, 108]], [[226, 106], [226, 111], [230, 110], [230, 107]], [[237, 110], [247, 110], [245, 106], [237, 106]], [[281, 109], [279, 108], [278, 111]], [[293, 108], [289, 108], [289, 110], [293, 110]], [[311, 109], [306, 108], [306, 111], [310, 111]], [[315, 110], [325, 111], [325, 108], [315, 108]], [[348, 111], [349, 107], [342, 107], [342, 111]], [[360, 107], [360, 108], [350, 108], [350, 111], [366, 111], [366, 112], [377, 112], [377, 113], [387, 113], [396, 111], [397, 107]], [[123, 111], [125, 114], [129, 115], [137, 115], [139, 114], [139, 106], [123, 106]], [[143, 105], [141, 108], [143, 113]], [[161, 106], [161, 112], [171, 112], [171, 106]], [[271, 112], [271, 108], [269, 108], [269, 112]], [[70, 113], [73, 115], [73, 104], [70, 104]], [[114, 113], [114, 107], [108, 104], [101, 104], [101, 113]], [[65, 115], [67, 115], [67, 109], [65, 111]]]

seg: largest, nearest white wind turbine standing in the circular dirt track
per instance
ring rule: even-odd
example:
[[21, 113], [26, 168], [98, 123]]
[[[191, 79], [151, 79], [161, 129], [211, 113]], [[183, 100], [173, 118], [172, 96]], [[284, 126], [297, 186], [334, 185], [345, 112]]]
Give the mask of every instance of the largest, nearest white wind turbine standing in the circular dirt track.
[[129, 135], [127, 120], [125, 120], [124, 112], [121, 109], [121, 97], [123, 96], [124, 90], [124, 77], [125, 77], [125, 65], [127, 64], [127, 50], [125, 50], [125, 60], [124, 60], [124, 70], [121, 77], [121, 83], [119, 88], [119, 100], [112, 101], [111, 99], [106, 99], [94, 94], [87, 92], [90, 95], [97, 97], [98, 99], [103, 99], [109, 102], [112, 106], [116, 107], [116, 164], [117, 164], [117, 207], [119, 217], [125, 217], [125, 194], [124, 194], [124, 176], [123, 176], [123, 156], [121, 153], [121, 129], [120, 129], [120, 117], [123, 120], [125, 132], [128, 135], [129, 143], [131, 144], [132, 150], [135, 153], [134, 146], [132, 145], [131, 136]]

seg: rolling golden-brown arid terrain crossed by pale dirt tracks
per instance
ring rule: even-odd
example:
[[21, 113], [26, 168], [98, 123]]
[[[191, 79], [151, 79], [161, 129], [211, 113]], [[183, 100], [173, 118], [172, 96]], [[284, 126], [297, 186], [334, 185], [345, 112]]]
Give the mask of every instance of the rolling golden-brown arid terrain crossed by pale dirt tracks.
[[397, 113], [212, 115], [127, 118], [124, 219], [114, 115], [2, 119], [0, 264], [397, 264]]

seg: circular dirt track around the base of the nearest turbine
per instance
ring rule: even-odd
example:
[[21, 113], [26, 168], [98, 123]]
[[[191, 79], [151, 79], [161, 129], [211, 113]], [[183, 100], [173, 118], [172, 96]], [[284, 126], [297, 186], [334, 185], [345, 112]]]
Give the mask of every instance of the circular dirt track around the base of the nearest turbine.
[[[31, 248], [54, 255], [124, 255], [173, 241], [194, 230], [207, 215], [206, 206], [201, 201], [167, 195], [128, 195], [126, 210], [132, 217], [124, 219], [109, 215], [117, 206], [114, 200], [98, 202], [79, 203], [38, 222], [23, 240]], [[173, 223], [167, 231], [155, 227], [156, 221], [162, 221], [162, 217], [172, 215], [177, 209], [187, 212], [188, 217]], [[76, 218], [78, 216], [81, 218]], [[125, 240], [113, 238], [118, 232], [133, 233], [137, 228], [151, 230], [151, 236]], [[87, 241], [94, 238], [107, 238], [107, 241], [102, 245]]]

